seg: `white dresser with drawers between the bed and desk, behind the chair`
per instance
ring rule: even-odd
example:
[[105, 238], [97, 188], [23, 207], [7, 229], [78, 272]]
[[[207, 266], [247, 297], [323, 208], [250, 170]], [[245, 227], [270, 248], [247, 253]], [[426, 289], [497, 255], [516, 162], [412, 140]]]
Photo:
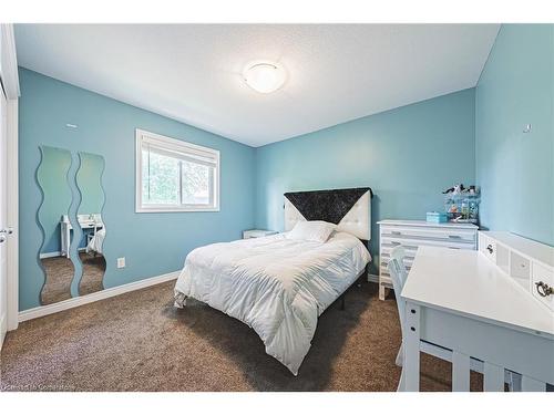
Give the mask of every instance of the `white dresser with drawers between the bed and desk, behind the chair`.
[[381, 220], [379, 225], [379, 298], [384, 300], [392, 281], [387, 269], [392, 248], [406, 249], [406, 266], [411, 268], [420, 246], [475, 250], [478, 229], [472, 224], [432, 224], [424, 220]]

